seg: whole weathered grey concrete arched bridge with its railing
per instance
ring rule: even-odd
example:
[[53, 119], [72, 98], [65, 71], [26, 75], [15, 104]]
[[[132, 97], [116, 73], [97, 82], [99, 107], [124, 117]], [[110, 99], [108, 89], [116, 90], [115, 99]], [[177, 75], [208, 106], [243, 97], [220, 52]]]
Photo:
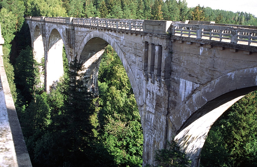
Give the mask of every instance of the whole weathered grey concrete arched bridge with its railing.
[[26, 17], [35, 58], [45, 57], [45, 89], [68, 61], [87, 68], [98, 95], [105, 47], [119, 55], [134, 90], [144, 133], [143, 165], [172, 137], [199, 166], [216, 119], [257, 87], [257, 27], [215, 22]]

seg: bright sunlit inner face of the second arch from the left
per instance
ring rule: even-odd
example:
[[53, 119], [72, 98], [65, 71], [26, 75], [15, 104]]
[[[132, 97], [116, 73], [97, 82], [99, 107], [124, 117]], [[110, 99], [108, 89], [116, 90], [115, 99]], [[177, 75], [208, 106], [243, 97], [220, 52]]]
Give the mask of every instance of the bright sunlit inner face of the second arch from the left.
[[57, 29], [53, 29], [48, 39], [47, 55], [45, 56], [45, 88], [63, 76], [63, 39]]

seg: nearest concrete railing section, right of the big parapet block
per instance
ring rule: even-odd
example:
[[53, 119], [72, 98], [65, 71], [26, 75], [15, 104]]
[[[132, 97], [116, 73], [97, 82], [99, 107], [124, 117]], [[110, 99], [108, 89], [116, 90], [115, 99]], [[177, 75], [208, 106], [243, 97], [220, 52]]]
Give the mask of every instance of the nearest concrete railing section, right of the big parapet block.
[[[236, 26], [172, 23], [172, 35], [244, 45], [257, 44], [257, 30]], [[256, 44], [255, 44], [256, 43]]]

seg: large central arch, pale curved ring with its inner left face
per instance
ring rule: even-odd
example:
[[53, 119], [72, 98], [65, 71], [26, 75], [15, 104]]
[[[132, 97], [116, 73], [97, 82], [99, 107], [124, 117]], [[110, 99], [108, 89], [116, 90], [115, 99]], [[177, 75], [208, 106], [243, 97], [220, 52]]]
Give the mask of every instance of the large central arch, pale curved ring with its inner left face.
[[[140, 89], [136, 84], [134, 72], [130, 67], [129, 61], [125, 58], [126, 53], [120, 47], [121, 45], [119, 45], [119, 41], [117, 41], [117, 39], [98, 30], [92, 31], [84, 37], [78, 51], [78, 60], [87, 68], [87, 73], [89, 75], [89, 79], [91, 80], [91, 82], [89, 82], [88, 88], [93, 90], [96, 95], [98, 95], [98, 70], [102, 59], [102, 54], [108, 44], [113, 47], [121, 59], [134, 91], [136, 102], [138, 104], [140, 98], [138, 92]], [[92, 62], [94, 63], [92, 64]]]

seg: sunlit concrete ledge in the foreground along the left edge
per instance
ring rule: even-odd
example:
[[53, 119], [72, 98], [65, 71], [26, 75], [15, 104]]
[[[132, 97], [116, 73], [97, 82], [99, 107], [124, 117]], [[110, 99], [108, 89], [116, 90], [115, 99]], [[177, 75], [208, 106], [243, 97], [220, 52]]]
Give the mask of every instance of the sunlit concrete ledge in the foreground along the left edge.
[[0, 77], [0, 166], [32, 166], [5, 74], [2, 56], [0, 56]]

